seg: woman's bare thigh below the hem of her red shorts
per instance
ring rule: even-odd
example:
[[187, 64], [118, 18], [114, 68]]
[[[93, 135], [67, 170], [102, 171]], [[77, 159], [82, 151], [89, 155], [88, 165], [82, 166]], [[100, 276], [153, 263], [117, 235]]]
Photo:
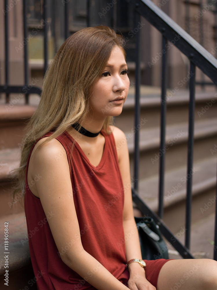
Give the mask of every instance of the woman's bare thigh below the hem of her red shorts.
[[183, 259], [166, 262], [159, 273], [157, 290], [217, 290], [217, 262]]

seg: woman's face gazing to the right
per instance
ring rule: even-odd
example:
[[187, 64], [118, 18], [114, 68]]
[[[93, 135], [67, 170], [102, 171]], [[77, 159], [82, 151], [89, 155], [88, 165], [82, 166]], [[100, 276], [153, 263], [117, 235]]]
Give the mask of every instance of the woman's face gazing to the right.
[[89, 102], [94, 118], [120, 115], [130, 85], [127, 73], [123, 52], [115, 46], [102, 76], [91, 89]]

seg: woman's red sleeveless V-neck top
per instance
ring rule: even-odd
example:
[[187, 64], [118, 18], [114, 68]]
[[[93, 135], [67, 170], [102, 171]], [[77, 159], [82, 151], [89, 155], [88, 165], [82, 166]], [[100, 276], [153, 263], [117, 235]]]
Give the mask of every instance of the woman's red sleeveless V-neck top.
[[[56, 139], [67, 153], [73, 199], [84, 250], [127, 285], [129, 273], [125, 265], [126, 249], [122, 224], [124, 204], [122, 177], [113, 134], [107, 135], [103, 131], [101, 133], [105, 137], [105, 146], [100, 164], [96, 167], [89, 162], [77, 142], [71, 154], [74, 140], [67, 132]], [[34, 146], [30, 155], [33, 148]], [[88, 283], [88, 277], [93, 276], [97, 269], [89, 271], [87, 277], [84, 277], [85, 281], [61, 260], [61, 255], [67, 251], [70, 243], [58, 252], [41, 201], [32, 194], [31, 186], [29, 188], [27, 184], [30, 155], [26, 167], [25, 214], [30, 255], [38, 290], [95, 289]], [[49, 214], [52, 216], [52, 212]], [[71, 241], [72, 244], [75, 242]]]

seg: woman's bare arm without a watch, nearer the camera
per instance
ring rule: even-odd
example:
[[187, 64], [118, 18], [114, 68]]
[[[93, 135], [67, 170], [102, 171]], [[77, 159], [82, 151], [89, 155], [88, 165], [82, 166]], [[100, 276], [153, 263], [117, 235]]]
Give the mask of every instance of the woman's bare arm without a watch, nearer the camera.
[[[62, 261], [82, 278], [88, 278], [88, 282], [99, 290], [128, 289], [82, 247], [67, 155], [56, 139], [35, 150], [42, 140], [36, 144], [31, 155], [28, 180], [35, 174], [41, 176], [33, 193], [40, 197], [45, 215], [53, 213], [48, 222], [58, 251], [61, 252], [70, 241], [76, 241], [61, 255]], [[58, 156], [62, 157], [55, 158]], [[98, 271], [90, 276], [88, 273], [93, 269]]]

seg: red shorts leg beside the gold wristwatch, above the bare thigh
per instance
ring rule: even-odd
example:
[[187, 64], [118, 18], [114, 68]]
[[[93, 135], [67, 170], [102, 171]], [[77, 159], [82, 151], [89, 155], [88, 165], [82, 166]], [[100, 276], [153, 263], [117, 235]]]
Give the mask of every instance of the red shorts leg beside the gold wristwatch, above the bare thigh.
[[173, 259], [144, 260], [146, 262], [146, 279], [157, 289], [157, 279], [163, 265]]

